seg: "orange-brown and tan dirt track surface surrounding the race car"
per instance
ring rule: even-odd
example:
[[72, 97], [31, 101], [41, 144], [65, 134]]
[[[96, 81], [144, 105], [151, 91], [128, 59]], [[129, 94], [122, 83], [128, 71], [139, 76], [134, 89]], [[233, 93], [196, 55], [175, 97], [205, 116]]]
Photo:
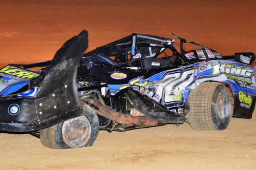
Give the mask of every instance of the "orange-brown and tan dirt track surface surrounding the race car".
[[[0, 1], [0, 67], [52, 59], [82, 29], [88, 51], [132, 32], [178, 34], [219, 53], [253, 51], [255, 1]], [[256, 114], [254, 112], [254, 114]], [[53, 150], [0, 134], [0, 169], [256, 169], [256, 116], [225, 131], [179, 127], [100, 131], [92, 147]]]

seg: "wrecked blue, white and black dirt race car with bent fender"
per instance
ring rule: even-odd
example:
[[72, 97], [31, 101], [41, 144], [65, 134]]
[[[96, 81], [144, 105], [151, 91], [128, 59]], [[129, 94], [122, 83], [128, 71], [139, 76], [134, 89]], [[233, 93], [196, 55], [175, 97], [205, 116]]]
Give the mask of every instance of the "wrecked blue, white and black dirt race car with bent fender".
[[232, 116], [252, 118], [255, 54], [223, 57], [172, 35], [179, 51], [174, 39], [133, 33], [85, 53], [82, 31], [52, 61], [9, 64], [0, 70], [0, 131], [31, 133], [62, 149], [91, 146], [101, 129], [188, 122], [223, 130]]

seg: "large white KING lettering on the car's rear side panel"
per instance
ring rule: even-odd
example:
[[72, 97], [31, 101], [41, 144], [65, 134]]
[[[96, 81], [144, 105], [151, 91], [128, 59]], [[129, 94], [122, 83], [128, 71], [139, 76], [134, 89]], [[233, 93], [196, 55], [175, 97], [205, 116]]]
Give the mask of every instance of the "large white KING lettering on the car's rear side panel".
[[240, 77], [252, 78], [253, 69], [235, 67], [233, 63], [218, 63], [213, 66], [211, 76], [218, 76], [220, 73], [228, 73]]

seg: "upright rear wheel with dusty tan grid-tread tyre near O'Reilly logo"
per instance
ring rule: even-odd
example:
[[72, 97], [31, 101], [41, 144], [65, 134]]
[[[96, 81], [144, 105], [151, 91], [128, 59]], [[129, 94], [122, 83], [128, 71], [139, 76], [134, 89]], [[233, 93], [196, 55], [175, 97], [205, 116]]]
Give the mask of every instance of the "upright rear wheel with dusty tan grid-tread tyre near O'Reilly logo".
[[219, 131], [231, 117], [228, 89], [218, 82], [201, 83], [189, 93], [188, 122], [195, 130]]

